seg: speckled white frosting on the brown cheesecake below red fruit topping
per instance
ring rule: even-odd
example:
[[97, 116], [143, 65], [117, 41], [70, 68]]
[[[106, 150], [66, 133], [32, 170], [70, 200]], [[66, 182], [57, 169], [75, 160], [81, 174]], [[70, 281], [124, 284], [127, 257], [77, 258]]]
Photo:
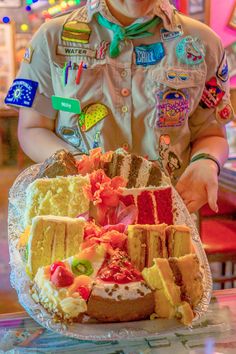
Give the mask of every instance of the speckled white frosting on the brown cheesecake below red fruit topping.
[[144, 282], [131, 282], [127, 284], [114, 284], [97, 281], [92, 294], [104, 299], [135, 300], [150, 294], [151, 290]]

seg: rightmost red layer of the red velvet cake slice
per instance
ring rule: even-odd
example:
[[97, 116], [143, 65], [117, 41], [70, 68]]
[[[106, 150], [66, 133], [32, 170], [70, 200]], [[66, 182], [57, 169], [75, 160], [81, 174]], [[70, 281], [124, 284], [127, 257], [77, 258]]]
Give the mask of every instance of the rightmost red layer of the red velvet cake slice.
[[159, 223], [173, 224], [172, 193], [171, 188], [154, 191], [156, 200], [157, 217]]

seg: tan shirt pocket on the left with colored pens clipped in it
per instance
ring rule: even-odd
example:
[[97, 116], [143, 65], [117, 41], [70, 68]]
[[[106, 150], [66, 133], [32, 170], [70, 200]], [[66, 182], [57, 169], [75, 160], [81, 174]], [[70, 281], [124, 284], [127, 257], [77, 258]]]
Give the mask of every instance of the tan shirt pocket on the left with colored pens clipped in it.
[[[69, 69], [66, 70], [66, 65]], [[81, 107], [103, 99], [103, 64], [98, 62], [83, 61], [80, 70], [80, 62], [76, 59], [57, 59], [52, 62], [52, 81], [56, 96], [77, 98], [81, 101]], [[79, 76], [79, 81], [76, 78]]]

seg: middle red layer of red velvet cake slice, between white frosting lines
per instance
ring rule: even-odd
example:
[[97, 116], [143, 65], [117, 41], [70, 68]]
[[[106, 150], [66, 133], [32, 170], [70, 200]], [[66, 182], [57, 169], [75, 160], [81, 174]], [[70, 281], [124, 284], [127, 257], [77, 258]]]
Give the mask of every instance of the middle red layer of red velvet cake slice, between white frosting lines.
[[137, 200], [138, 224], [155, 224], [155, 208], [153, 205], [151, 192], [143, 191]]

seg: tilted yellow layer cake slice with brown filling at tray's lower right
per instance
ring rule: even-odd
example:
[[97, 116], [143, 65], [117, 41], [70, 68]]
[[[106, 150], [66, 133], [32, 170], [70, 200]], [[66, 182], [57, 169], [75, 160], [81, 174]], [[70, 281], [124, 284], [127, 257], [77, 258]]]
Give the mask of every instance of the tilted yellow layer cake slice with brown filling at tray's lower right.
[[202, 273], [196, 255], [155, 258], [154, 265], [144, 268], [142, 275], [155, 290], [157, 317], [176, 317], [186, 325], [192, 322], [193, 308], [203, 296]]

